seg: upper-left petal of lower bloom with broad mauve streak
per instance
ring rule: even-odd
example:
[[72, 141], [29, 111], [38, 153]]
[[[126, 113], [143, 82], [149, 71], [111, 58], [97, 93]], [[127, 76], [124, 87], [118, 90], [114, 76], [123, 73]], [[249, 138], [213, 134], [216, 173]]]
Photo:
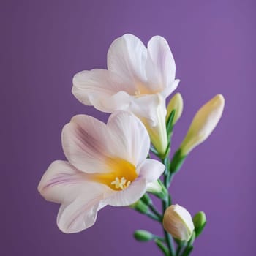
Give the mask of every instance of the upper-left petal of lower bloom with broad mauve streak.
[[62, 146], [69, 162], [85, 173], [104, 173], [108, 131], [102, 122], [86, 115], [72, 118], [62, 130]]

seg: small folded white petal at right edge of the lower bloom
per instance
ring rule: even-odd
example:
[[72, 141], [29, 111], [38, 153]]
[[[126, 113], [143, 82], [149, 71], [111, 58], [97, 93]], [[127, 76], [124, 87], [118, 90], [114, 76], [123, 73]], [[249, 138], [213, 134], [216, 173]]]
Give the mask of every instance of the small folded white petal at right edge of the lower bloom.
[[139, 167], [139, 176], [147, 182], [157, 181], [165, 171], [165, 165], [154, 159], [146, 159]]

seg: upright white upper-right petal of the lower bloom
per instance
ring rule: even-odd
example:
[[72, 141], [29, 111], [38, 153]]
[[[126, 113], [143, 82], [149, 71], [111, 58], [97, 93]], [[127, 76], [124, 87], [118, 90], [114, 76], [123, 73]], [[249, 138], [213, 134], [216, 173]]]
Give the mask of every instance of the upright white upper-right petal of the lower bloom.
[[111, 134], [111, 154], [137, 166], [146, 159], [150, 138], [146, 127], [132, 113], [118, 111], [108, 119]]

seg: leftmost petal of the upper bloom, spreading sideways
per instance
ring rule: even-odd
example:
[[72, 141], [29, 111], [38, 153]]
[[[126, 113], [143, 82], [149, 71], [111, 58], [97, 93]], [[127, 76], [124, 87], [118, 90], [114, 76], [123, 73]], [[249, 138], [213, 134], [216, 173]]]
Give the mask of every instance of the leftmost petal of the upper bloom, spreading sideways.
[[[82, 71], [73, 78], [72, 93], [75, 97], [83, 104], [94, 105], [95, 108], [104, 112], [115, 110], [115, 108], [110, 108], [108, 104], [113, 101], [113, 97], [119, 91], [134, 94], [135, 89], [129, 88], [124, 79], [105, 69]], [[118, 98], [120, 98], [120, 95]], [[109, 99], [108, 104], [102, 106], [101, 102], [105, 101], [105, 99]], [[118, 102], [119, 108], [121, 108], [122, 104], [127, 104], [127, 101], [124, 99], [127, 99], [127, 97], [122, 97]]]

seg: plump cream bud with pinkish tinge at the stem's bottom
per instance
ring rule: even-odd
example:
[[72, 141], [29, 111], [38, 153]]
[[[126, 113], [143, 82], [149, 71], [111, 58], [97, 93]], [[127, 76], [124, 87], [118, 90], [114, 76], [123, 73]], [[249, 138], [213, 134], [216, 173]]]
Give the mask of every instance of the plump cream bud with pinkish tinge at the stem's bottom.
[[189, 241], [195, 228], [189, 212], [178, 204], [165, 210], [162, 225], [173, 238], [180, 241]]

